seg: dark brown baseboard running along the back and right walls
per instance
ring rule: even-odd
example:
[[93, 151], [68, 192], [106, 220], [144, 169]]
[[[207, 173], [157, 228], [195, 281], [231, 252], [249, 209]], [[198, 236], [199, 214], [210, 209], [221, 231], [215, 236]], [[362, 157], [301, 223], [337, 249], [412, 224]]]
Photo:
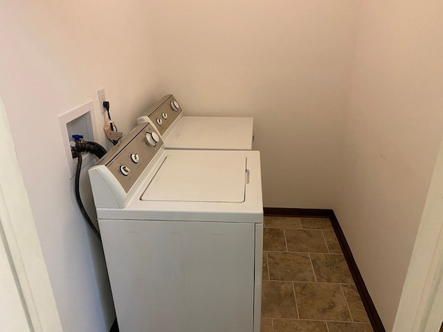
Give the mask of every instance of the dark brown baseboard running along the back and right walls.
[[323, 209], [292, 209], [292, 208], [264, 208], [265, 216], [298, 216], [298, 217], [314, 217], [314, 218], [329, 218], [334, 228], [338, 243], [340, 243], [341, 250], [345, 256], [347, 265], [350, 268], [352, 279], [354, 279], [357, 291], [359, 291], [361, 301], [363, 306], [365, 306], [366, 313], [368, 313], [368, 318], [372, 325], [374, 332], [386, 332], [386, 329], [381, 322], [377, 308], [374, 306], [374, 302], [370, 297], [368, 288], [366, 288], [363, 277], [361, 276], [359, 267], [354, 260], [352, 251], [349, 244], [346, 241], [345, 234], [341, 229], [340, 223], [334, 214], [333, 210], [323, 210]]

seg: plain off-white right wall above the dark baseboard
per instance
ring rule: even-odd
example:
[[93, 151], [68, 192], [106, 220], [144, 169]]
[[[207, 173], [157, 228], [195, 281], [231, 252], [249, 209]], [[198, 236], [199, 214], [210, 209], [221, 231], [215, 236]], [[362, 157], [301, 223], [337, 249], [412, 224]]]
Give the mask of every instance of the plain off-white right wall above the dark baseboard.
[[363, 1], [334, 210], [386, 330], [443, 133], [443, 3]]

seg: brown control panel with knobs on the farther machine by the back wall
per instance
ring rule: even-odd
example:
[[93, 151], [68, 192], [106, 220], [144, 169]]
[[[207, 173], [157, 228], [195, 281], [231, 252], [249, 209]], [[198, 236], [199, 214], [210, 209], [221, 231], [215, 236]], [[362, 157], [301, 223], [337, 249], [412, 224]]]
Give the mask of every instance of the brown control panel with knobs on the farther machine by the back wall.
[[161, 135], [170, 127], [174, 120], [182, 112], [179, 102], [173, 95], [165, 95], [153, 107], [148, 109], [143, 116], [148, 116], [156, 125]]

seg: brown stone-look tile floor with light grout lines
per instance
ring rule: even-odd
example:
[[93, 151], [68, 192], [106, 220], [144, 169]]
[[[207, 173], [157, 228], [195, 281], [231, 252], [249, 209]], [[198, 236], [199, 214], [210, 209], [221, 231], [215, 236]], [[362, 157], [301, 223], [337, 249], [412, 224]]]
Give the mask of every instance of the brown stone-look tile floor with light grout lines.
[[329, 219], [264, 217], [262, 332], [372, 332]]

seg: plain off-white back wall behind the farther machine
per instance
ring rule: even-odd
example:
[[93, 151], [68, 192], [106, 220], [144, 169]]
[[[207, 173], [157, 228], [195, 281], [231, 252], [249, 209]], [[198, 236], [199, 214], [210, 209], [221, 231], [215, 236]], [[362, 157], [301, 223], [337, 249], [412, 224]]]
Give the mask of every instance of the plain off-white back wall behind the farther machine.
[[160, 88], [253, 116], [264, 205], [331, 208], [359, 1], [152, 1]]

